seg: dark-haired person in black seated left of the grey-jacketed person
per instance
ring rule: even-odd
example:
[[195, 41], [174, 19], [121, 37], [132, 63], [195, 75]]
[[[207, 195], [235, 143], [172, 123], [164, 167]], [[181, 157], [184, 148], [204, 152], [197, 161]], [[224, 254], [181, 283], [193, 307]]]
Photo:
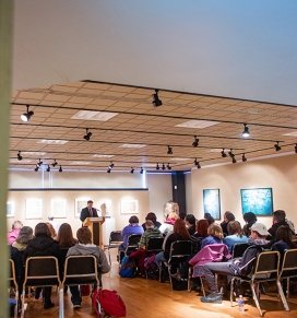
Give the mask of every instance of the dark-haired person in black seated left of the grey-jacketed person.
[[[60, 248], [56, 240], [50, 236], [49, 228], [46, 223], [38, 223], [34, 231], [35, 237], [32, 238], [24, 251], [24, 259], [33, 256], [55, 256], [59, 259]], [[39, 298], [40, 288], [36, 288], [35, 298]], [[43, 288], [44, 308], [54, 307], [50, 299], [51, 287]]]

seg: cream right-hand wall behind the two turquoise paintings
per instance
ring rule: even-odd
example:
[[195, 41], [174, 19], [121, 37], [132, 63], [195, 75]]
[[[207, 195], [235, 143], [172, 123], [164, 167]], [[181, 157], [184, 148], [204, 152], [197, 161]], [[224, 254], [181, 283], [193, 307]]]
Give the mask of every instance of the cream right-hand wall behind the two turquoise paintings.
[[[199, 219], [204, 213], [203, 189], [218, 188], [222, 217], [229, 210], [238, 221], [243, 222], [240, 189], [270, 187], [273, 189], [274, 210], [285, 210], [287, 217], [297, 226], [296, 155], [193, 169], [191, 185], [192, 207]], [[272, 225], [271, 216], [258, 220], [269, 227]]]

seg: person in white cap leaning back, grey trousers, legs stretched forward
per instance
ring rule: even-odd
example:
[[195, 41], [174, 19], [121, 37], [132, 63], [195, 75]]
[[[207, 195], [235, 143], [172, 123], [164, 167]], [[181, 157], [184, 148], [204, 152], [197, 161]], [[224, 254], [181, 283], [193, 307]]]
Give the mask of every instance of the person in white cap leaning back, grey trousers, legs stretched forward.
[[[202, 303], [222, 303], [222, 294], [218, 293], [217, 283], [215, 280], [215, 274], [225, 274], [225, 275], [234, 275], [234, 274], [242, 274], [248, 275], [252, 269], [252, 264], [247, 267], [249, 261], [256, 257], [262, 249], [262, 243], [268, 243], [265, 237], [269, 235], [266, 226], [262, 223], [254, 223], [251, 226], [251, 236], [250, 242], [253, 243], [253, 248], [248, 248], [243, 256], [239, 259], [234, 259], [227, 262], [209, 262], [203, 267], [205, 280], [210, 286], [210, 295], [205, 297], [201, 297]], [[259, 246], [259, 247], [257, 247]]]

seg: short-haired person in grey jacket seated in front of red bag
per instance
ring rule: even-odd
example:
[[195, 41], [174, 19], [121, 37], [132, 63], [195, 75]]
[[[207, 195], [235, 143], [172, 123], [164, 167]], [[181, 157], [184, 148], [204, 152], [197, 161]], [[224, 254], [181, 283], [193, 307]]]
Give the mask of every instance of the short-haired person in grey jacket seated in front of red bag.
[[[110, 271], [110, 266], [107, 261], [106, 255], [103, 249], [92, 244], [91, 231], [87, 227], [81, 227], [76, 232], [76, 237], [79, 243], [69, 248], [67, 256], [94, 255], [97, 259], [99, 273], [108, 273]], [[80, 308], [82, 297], [80, 295], [79, 286], [70, 286], [70, 292], [73, 308]]]

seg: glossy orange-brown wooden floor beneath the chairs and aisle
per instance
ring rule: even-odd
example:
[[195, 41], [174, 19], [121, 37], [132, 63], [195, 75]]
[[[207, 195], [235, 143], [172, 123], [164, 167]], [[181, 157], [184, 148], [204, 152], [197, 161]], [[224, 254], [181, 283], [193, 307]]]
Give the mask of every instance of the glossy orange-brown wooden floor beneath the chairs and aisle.
[[[115, 259], [115, 256], [114, 256]], [[253, 301], [246, 298], [245, 314], [238, 311], [237, 305], [230, 307], [228, 301], [223, 304], [203, 304], [195, 292], [171, 291], [169, 283], [145, 280], [142, 278], [121, 279], [118, 275], [118, 263], [112, 262], [111, 272], [104, 275], [104, 288], [116, 290], [123, 298], [127, 306], [128, 318], [181, 318], [181, 317], [259, 317]], [[52, 297], [58, 305], [58, 298]], [[260, 305], [264, 311], [264, 317], [297, 317], [297, 295], [289, 298], [290, 311], [285, 311], [282, 302], [277, 296], [261, 296]], [[64, 296], [64, 317], [67, 318], [90, 318], [96, 317], [92, 311], [91, 298], [83, 297], [82, 308], [73, 310], [70, 294]], [[59, 317], [58, 306], [51, 309], [43, 309], [39, 301], [28, 303], [25, 317]]]

